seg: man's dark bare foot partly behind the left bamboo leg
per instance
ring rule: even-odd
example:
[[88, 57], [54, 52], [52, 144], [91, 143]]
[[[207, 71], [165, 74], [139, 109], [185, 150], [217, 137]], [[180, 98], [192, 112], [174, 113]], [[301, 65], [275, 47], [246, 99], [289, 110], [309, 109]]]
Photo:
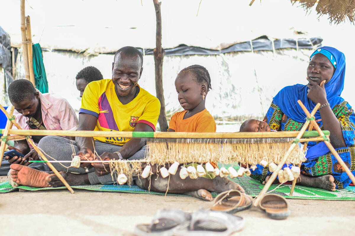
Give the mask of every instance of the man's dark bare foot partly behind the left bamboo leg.
[[[59, 172], [69, 185], [87, 185], [90, 184], [87, 174], [73, 174], [64, 171]], [[53, 188], [64, 186], [61, 180], [55, 174], [49, 174], [45, 179], [47, 184]]]

